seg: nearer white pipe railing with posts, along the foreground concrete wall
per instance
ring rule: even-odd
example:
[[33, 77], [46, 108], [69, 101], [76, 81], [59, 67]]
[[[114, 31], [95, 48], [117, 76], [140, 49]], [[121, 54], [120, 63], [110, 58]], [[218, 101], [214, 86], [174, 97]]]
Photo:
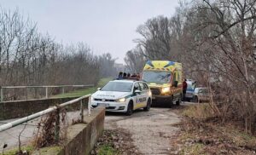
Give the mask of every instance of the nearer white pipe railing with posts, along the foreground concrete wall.
[[78, 99], [67, 101], [67, 102], [62, 103], [61, 105], [58, 105], [58, 106], [49, 107], [48, 109], [46, 109], [44, 111], [34, 113], [34, 114], [29, 115], [25, 118], [20, 118], [20, 119], [17, 119], [15, 121], [13, 121], [13, 122], [5, 123], [5, 124], [0, 126], [0, 132], [3, 132], [7, 129], [14, 128], [17, 125], [20, 125], [22, 123], [26, 123], [26, 122], [34, 119], [34, 118], [42, 117], [43, 115], [48, 114], [50, 112], [57, 112], [56, 123], [55, 123], [55, 141], [58, 141], [59, 140], [59, 134], [60, 134], [60, 119], [61, 119], [60, 118], [60, 110], [61, 110], [61, 108], [65, 107], [65, 106], [72, 105], [72, 104], [77, 103], [77, 102], [80, 101], [80, 117], [81, 117], [80, 119], [81, 119], [81, 121], [83, 121], [84, 120], [83, 100], [86, 99], [86, 98], [88, 98], [88, 115], [90, 116], [90, 95], [84, 95], [82, 97], [79, 97]]

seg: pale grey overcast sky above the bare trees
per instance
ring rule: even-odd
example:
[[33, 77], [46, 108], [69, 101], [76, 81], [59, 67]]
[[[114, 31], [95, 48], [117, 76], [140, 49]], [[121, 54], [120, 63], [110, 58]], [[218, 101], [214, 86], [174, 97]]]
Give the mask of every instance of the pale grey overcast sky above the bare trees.
[[137, 26], [149, 18], [172, 16], [178, 0], [0, 0], [3, 9], [18, 8], [61, 43], [84, 42], [96, 55], [109, 52], [124, 63], [126, 51], [140, 37]]

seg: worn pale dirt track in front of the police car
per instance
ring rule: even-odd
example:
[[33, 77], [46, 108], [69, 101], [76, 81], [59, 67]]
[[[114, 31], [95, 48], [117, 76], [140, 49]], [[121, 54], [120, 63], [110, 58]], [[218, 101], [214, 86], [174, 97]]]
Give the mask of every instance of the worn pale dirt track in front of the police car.
[[173, 111], [169, 108], [151, 108], [149, 112], [134, 112], [131, 117], [107, 113], [105, 129], [130, 132], [133, 145], [143, 154], [170, 154], [172, 135], [178, 130], [174, 124], [180, 122]]

